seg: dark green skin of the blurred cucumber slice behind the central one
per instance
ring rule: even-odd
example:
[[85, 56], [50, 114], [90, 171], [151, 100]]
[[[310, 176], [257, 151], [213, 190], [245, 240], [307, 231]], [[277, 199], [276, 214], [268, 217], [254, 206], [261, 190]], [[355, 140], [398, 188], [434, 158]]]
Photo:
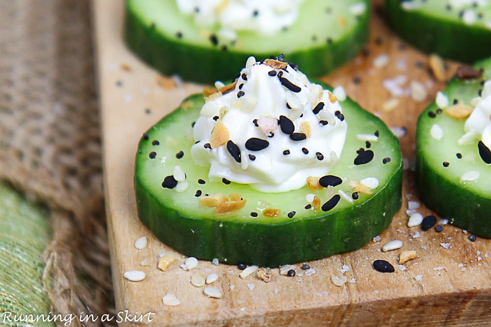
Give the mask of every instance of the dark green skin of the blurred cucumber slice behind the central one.
[[[269, 58], [277, 53], [258, 53], [244, 51], [223, 51], [218, 48], [200, 47], [176, 42], [164, 37], [151, 26], [145, 25], [132, 12], [126, 1], [124, 40], [141, 60], [164, 75], [178, 74], [184, 80], [212, 84], [217, 80], [229, 80], [235, 76], [251, 55], [256, 58]], [[321, 76], [332, 72], [351, 60], [368, 41], [367, 14], [361, 16], [360, 24], [354, 33], [331, 45], [308, 50], [284, 53], [289, 62], [300, 67], [307, 76]]]

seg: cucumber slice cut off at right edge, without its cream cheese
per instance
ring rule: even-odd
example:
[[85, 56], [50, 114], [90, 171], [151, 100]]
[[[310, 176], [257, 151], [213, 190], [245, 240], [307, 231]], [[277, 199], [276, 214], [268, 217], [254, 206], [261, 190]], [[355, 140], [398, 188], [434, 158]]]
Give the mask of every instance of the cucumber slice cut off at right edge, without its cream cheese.
[[[471, 99], [479, 96], [482, 81], [491, 78], [491, 58], [476, 63], [474, 67], [478, 70], [484, 68], [482, 76], [474, 79], [454, 77], [443, 91], [450, 104], [456, 99], [469, 105]], [[455, 226], [489, 238], [491, 165], [484, 162], [479, 154], [479, 140], [458, 144], [464, 135], [466, 119], [451, 117], [445, 113], [446, 110], [448, 107], [440, 113], [434, 101], [421, 113], [417, 122], [415, 178], [420, 198]], [[479, 174], [479, 178], [461, 180], [464, 173], [469, 172], [477, 172], [470, 176], [475, 178]]]

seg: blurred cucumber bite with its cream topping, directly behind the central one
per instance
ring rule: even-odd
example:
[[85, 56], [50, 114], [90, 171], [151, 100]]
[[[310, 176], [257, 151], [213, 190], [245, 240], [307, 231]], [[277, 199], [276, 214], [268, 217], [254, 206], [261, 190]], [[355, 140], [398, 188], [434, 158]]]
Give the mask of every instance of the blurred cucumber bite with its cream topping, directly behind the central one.
[[249, 55], [283, 52], [320, 76], [368, 40], [369, 0], [126, 0], [124, 38], [165, 75], [230, 79]]

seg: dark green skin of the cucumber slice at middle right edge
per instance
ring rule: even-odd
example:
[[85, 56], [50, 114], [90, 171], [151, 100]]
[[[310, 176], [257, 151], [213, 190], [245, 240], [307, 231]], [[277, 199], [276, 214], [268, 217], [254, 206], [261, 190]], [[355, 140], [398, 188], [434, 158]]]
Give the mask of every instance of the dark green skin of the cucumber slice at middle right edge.
[[[491, 70], [491, 58], [475, 63], [474, 68]], [[453, 77], [449, 85], [456, 82], [459, 81]], [[464, 87], [468, 88], [469, 85], [464, 85]], [[473, 94], [477, 95], [477, 90], [478, 88]], [[466, 90], [466, 92], [469, 91]], [[425, 121], [432, 119], [429, 118], [428, 113], [435, 112], [436, 109], [434, 101], [420, 114], [416, 123], [416, 135], [418, 135], [418, 129], [422, 129]], [[463, 185], [454, 183], [436, 173], [425, 155], [425, 143], [425, 138], [416, 137], [415, 183], [419, 198], [442, 218], [449, 219], [454, 226], [466, 229], [480, 237], [491, 238], [491, 198], [471, 193]]]

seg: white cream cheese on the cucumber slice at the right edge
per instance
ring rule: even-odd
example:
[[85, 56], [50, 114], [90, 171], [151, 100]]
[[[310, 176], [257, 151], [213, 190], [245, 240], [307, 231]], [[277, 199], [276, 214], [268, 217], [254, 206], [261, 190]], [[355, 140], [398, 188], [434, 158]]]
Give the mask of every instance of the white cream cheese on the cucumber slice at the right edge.
[[481, 98], [478, 98], [474, 110], [464, 125], [465, 134], [459, 144], [481, 140], [491, 149], [491, 81], [484, 84]]

